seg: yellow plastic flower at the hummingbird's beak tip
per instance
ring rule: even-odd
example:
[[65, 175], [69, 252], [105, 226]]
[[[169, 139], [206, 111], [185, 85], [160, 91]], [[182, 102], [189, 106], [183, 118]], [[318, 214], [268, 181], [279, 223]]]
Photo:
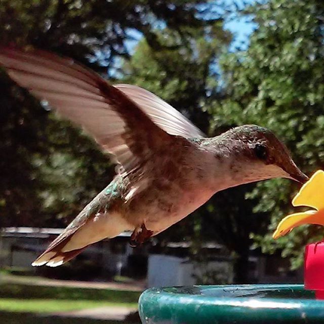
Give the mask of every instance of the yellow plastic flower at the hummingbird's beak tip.
[[324, 226], [324, 171], [316, 171], [301, 187], [293, 199], [293, 206], [307, 206], [315, 210], [285, 217], [278, 224], [272, 235], [273, 238], [283, 236], [299, 225], [316, 224]]

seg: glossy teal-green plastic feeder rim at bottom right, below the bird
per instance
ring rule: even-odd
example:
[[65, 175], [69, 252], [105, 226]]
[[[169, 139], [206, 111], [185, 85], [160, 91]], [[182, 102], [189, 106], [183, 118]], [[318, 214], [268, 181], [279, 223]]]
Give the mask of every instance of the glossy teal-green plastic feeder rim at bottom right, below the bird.
[[303, 285], [152, 288], [139, 299], [144, 324], [324, 323], [324, 301]]

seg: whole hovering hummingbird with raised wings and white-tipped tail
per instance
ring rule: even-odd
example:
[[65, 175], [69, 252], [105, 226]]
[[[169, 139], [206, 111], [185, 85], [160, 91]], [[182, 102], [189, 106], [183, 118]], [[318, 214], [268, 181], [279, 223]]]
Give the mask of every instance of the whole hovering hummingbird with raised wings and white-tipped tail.
[[59, 266], [123, 231], [140, 245], [220, 190], [271, 178], [305, 183], [285, 144], [257, 125], [205, 137], [171, 105], [137, 86], [42, 50], [0, 49], [21, 87], [95, 138], [117, 164], [114, 179], [33, 263]]

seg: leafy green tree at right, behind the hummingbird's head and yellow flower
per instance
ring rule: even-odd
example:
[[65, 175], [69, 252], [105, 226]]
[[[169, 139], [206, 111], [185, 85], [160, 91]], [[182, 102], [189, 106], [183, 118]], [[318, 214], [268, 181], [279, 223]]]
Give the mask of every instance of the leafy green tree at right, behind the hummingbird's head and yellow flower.
[[[321, 0], [270, 0], [247, 10], [258, 27], [247, 51], [227, 54], [220, 62], [227, 99], [210, 109], [213, 125], [259, 124], [286, 142], [308, 174], [323, 168], [324, 158], [324, 3]], [[323, 237], [316, 226], [295, 229], [277, 241], [278, 221], [292, 211], [298, 186], [289, 180], [259, 183], [248, 195], [258, 198], [255, 213], [267, 213], [266, 235], [253, 237], [264, 252], [282, 250], [293, 268], [302, 264], [308, 241]], [[295, 209], [296, 211], [296, 209]]]

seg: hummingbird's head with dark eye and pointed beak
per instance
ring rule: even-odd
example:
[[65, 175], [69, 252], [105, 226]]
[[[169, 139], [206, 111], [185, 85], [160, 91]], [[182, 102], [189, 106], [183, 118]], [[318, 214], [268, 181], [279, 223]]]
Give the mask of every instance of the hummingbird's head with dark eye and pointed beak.
[[285, 144], [265, 128], [256, 125], [236, 127], [220, 135], [218, 143], [228, 148], [234, 182], [272, 178], [289, 178], [300, 183], [308, 180], [297, 168]]

